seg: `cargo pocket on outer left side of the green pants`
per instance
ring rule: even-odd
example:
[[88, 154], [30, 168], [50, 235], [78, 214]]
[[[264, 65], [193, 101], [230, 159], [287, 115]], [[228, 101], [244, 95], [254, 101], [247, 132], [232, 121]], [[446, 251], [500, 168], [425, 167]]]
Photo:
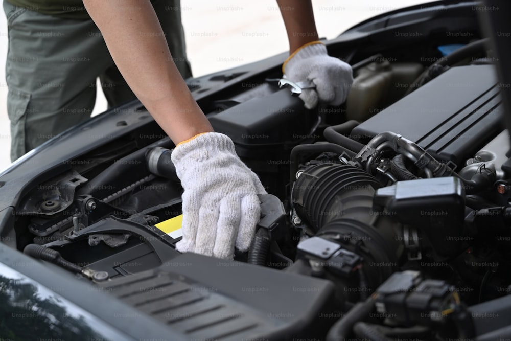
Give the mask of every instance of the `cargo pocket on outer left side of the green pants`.
[[26, 153], [25, 121], [30, 103], [30, 94], [9, 89], [7, 93], [7, 115], [11, 121], [11, 161]]

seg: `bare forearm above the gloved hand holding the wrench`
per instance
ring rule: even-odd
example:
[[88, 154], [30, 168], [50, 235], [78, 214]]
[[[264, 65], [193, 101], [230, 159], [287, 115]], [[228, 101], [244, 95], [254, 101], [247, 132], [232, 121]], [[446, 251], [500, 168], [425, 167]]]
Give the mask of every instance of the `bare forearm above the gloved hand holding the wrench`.
[[289, 53], [304, 44], [318, 40], [310, 0], [276, 0], [281, 10], [289, 40]]

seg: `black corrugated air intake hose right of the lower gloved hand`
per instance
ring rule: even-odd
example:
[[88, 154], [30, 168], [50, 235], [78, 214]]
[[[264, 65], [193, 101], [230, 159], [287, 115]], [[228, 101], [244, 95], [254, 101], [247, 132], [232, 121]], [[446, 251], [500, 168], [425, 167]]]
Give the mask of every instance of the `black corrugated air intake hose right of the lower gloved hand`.
[[320, 164], [301, 173], [291, 194], [297, 215], [317, 237], [363, 257], [365, 278], [373, 288], [396, 270], [404, 251], [402, 225], [373, 211], [373, 198], [381, 187], [357, 167]]

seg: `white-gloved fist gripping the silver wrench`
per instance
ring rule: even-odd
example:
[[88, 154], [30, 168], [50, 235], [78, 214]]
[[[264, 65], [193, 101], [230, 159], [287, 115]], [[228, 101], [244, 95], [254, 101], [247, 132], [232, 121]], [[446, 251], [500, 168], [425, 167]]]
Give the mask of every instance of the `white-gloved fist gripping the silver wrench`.
[[315, 89], [303, 89], [300, 94], [307, 109], [318, 100], [330, 105], [342, 104], [353, 83], [350, 64], [327, 54], [327, 47], [320, 41], [305, 44], [296, 50], [282, 65], [284, 77], [292, 82], [312, 81]]

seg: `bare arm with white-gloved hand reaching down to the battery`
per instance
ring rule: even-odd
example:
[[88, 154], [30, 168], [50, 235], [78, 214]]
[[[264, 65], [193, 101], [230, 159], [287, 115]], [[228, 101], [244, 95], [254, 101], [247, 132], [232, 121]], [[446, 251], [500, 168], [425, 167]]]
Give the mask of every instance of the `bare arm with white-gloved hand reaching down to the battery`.
[[233, 141], [213, 132], [169, 52], [149, 0], [83, 0], [133, 93], [177, 145], [172, 161], [184, 189], [181, 252], [233, 258], [246, 250], [260, 215], [257, 175]]

